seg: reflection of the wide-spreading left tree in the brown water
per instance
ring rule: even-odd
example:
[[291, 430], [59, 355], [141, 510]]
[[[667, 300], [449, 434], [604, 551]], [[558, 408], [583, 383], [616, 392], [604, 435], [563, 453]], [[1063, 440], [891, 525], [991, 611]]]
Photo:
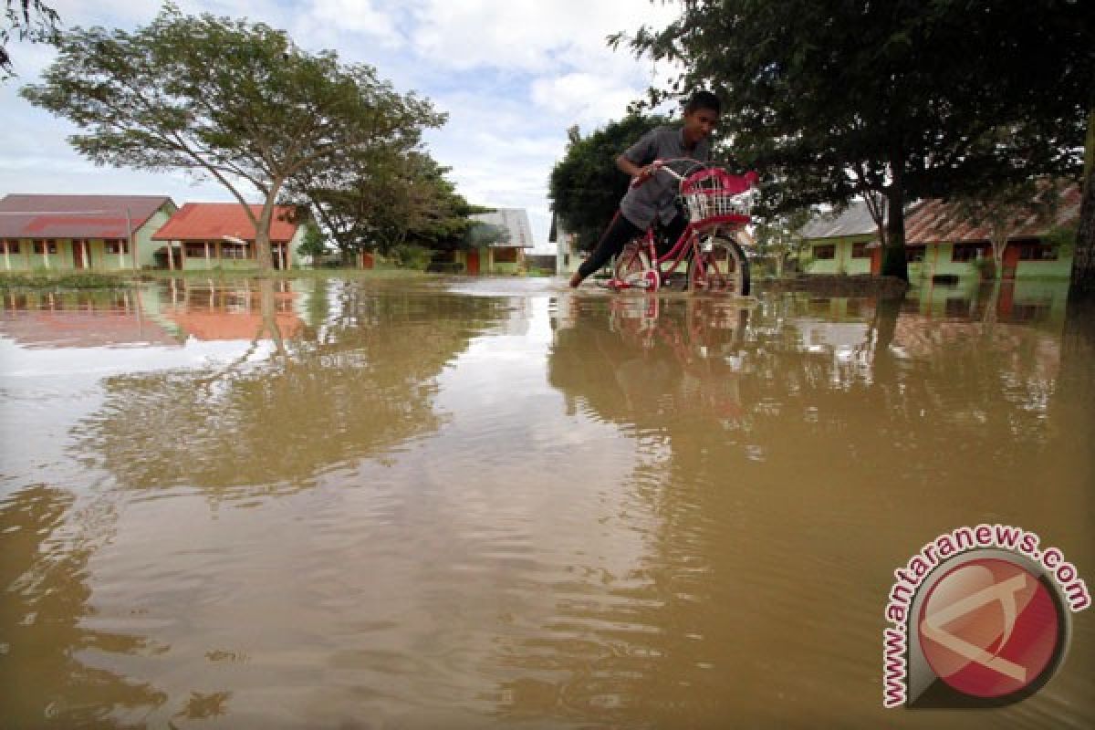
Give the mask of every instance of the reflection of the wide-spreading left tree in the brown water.
[[[433, 406], [434, 378], [485, 326], [494, 302], [319, 287], [330, 306], [313, 310], [295, 338], [281, 339], [263, 316], [227, 364], [106, 379], [105, 403], [79, 429], [80, 454], [135, 488], [254, 495], [306, 487], [435, 430], [443, 416]], [[268, 315], [272, 293], [260, 294]]]

